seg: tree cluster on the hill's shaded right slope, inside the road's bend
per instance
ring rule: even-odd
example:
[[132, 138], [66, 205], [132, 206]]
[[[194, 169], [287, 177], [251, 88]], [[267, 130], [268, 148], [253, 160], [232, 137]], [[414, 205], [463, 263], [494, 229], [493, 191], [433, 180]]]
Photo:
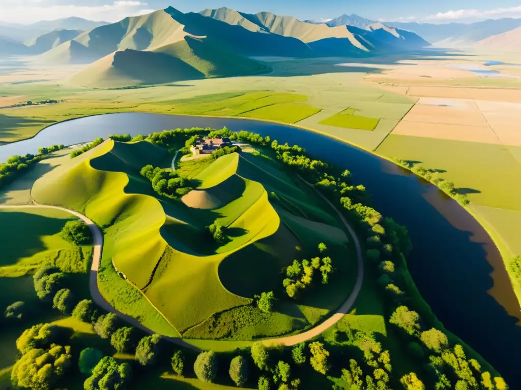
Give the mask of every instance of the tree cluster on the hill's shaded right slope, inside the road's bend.
[[[318, 250], [320, 254], [326, 251], [326, 245], [321, 242], [318, 245]], [[329, 256], [322, 258], [317, 256], [312, 258], [311, 262], [307, 259], [302, 259], [302, 261], [294, 259], [293, 264], [286, 267], [287, 278], [282, 281], [282, 285], [289, 297], [296, 298], [299, 291], [312, 285], [318, 272], [320, 272], [321, 283], [327, 284], [333, 271], [334, 268]]]

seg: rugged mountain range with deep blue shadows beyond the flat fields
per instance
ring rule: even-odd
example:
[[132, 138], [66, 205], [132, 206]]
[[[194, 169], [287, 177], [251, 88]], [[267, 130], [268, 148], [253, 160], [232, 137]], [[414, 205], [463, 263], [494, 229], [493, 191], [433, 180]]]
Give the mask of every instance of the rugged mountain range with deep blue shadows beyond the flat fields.
[[[66, 40], [66, 34], [76, 36]], [[271, 12], [183, 13], [169, 7], [84, 32], [54, 31], [28, 49], [48, 48], [39, 63], [90, 64], [70, 79], [72, 84], [122, 87], [269, 71], [258, 57], [368, 57], [427, 45], [416, 34], [381, 23], [367, 29], [330, 27]]]

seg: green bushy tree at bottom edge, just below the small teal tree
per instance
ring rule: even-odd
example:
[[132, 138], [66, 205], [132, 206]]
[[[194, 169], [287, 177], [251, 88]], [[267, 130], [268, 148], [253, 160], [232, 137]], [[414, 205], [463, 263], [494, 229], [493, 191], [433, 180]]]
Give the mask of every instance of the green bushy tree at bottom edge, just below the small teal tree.
[[125, 390], [132, 380], [132, 368], [129, 363], [118, 364], [116, 359], [105, 356], [85, 380], [85, 390]]

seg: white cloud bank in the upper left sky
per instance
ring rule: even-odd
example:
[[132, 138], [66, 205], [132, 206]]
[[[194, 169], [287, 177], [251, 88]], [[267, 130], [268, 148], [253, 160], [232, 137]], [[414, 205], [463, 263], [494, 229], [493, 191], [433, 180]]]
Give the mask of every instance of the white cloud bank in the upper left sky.
[[[31, 3], [31, 5], [29, 5]], [[76, 16], [90, 20], [116, 22], [127, 16], [148, 14], [153, 9], [142, 8], [147, 4], [134, 0], [119, 0], [96, 6], [49, 5], [34, 0], [0, 0], [0, 20], [10, 23], [33, 23], [40, 20], [55, 20]]]

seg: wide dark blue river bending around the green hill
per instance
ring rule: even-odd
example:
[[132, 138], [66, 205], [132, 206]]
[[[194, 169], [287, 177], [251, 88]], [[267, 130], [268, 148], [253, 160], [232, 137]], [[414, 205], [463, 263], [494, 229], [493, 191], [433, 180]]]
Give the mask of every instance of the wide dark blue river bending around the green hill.
[[408, 266], [445, 327], [473, 346], [512, 389], [521, 388], [519, 304], [498, 249], [478, 222], [425, 180], [344, 142], [275, 123], [145, 113], [90, 116], [47, 127], [32, 139], [0, 146], [0, 161], [52, 144], [72, 145], [110, 134], [147, 134], [177, 127], [228, 127], [298, 144], [348, 168], [366, 186], [375, 208], [407, 226], [413, 242]]

